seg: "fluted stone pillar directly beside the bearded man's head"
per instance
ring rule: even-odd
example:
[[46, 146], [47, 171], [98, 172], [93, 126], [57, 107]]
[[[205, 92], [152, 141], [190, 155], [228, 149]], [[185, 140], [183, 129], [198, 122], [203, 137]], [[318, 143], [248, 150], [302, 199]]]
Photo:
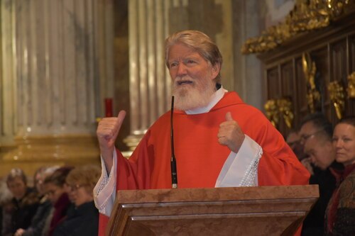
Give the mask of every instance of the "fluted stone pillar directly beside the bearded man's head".
[[164, 62], [169, 1], [129, 1], [129, 92], [131, 150], [151, 124], [170, 108], [171, 82]]

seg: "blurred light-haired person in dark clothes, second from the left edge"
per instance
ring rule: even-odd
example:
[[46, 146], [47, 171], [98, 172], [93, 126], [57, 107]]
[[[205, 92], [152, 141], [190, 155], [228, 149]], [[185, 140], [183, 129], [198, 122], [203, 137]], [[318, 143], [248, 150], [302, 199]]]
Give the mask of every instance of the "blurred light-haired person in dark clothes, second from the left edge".
[[6, 184], [13, 198], [11, 213], [11, 232], [27, 229], [39, 205], [39, 196], [35, 189], [27, 186], [27, 176], [22, 169], [11, 169], [6, 177]]

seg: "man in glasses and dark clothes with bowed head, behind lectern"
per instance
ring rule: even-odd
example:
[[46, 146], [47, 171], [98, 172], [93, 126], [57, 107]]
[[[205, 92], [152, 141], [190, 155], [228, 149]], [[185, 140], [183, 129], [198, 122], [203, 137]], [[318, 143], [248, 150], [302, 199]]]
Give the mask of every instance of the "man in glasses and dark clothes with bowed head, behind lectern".
[[320, 198], [303, 223], [302, 235], [324, 235], [324, 213], [335, 189], [335, 177], [330, 168], [342, 168], [335, 162], [332, 145], [332, 123], [322, 113], [314, 113], [302, 120], [300, 128], [304, 151], [312, 164], [310, 184], [318, 184]]

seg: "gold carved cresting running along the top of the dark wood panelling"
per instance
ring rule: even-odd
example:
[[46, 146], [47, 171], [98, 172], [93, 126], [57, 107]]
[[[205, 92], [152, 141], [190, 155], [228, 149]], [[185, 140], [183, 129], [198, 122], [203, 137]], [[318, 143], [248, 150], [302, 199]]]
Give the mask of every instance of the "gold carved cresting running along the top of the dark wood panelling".
[[243, 54], [266, 52], [301, 32], [329, 26], [342, 16], [346, 9], [354, 7], [354, 0], [296, 0], [285, 21], [267, 28], [261, 36], [249, 38], [241, 48]]

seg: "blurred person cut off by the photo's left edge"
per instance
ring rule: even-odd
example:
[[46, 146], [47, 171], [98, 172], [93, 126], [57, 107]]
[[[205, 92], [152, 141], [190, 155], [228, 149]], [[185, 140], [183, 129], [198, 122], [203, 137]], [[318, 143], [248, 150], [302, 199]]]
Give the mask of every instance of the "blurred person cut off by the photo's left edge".
[[7, 236], [11, 233], [11, 212], [13, 195], [9, 191], [6, 181], [0, 180], [0, 235]]

